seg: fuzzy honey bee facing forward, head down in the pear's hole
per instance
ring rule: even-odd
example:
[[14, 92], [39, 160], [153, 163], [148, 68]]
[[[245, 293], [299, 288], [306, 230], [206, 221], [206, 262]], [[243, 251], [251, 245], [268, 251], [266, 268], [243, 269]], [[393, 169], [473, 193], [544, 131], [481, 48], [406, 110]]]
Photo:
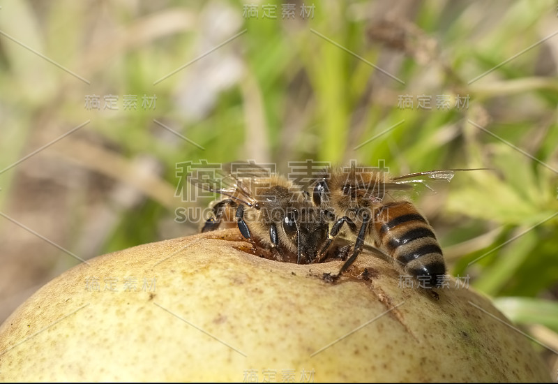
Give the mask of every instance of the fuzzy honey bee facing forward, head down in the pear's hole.
[[280, 175], [227, 175], [209, 184], [220, 183], [225, 187], [197, 185], [223, 195], [211, 205], [212, 216], [202, 232], [231, 226], [236, 221], [243, 237], [275, 249], [282, 260], [296, 258], [300, 264], [317, 258], [328, 237], [329, 223], [322, 217], [322, 210], [312, 204], [307, 191]]

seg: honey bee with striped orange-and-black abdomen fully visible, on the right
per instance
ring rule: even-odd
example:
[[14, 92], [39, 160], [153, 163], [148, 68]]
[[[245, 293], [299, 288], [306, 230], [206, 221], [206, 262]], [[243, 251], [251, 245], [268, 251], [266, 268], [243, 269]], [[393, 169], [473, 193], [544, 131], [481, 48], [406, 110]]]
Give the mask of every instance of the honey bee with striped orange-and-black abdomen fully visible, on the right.
[[[396, 191], [409, 191], [416, 185], [432, 190], [430, 182], [449, 182], [457, 170], [432, 170], [390, 177], [380, 170], [365, 170], [354, 163], [348, 168], [326, 169], [313, 184], [312, 200], [325, 216], [335, 216], [329, 238], [318, 253], [318, 261], [340, 233], [343, 225], [356, 237], [352, 255], [337, 275], [338, 279], [354, 263], [365, 242], [395, 260], [405, 273], [424, 281], [426, 287], [439, 287], [446, 274], [442, 248], [428, 220], [407, 198]], [[486, 168], [479, 168], [486, 169]]]

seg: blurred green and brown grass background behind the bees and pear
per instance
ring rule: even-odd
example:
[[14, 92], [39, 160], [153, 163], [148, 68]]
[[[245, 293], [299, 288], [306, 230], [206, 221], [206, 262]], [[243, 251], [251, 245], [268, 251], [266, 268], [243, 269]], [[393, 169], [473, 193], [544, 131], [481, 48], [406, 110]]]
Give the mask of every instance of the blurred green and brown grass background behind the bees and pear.
[[354, 158], [494, 168], [417, 205], [451, 273], [558, 350], [554, 1], [7, 0], [0, 31], [0, 320], [77, 258], [197, 232], [176, 163]]

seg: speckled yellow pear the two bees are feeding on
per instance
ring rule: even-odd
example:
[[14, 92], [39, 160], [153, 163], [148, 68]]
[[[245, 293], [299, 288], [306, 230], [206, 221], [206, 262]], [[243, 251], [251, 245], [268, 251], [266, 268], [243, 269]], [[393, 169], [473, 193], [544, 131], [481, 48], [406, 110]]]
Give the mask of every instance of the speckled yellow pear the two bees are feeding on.
[[[549, 381], [530, 341], [456, 286], [402, 288], [363, 253], [279, 263], [236, 230], [99, 256], [0, 327], [2, 381]], [[359, 279], [364, 268], [369, 279]]]

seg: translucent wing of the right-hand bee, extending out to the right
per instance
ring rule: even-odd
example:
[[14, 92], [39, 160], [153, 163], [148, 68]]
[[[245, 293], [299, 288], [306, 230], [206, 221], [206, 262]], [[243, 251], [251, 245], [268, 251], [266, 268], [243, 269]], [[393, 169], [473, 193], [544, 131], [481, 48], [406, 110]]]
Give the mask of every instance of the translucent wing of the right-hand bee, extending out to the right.
[[405, 191], [423, 186], [433, 193], [437, 192], [437, 186], [447, 184], [455, 176], [455, 172], [465, 172], [469, 170], [491, 170], [492, 168], [457, 168], [451, 170], [429, 170], [425, 172], [409, 173], [409, 175], [396, 176], [391, 178], [391, 182], [386, 183], [386, 191]]

